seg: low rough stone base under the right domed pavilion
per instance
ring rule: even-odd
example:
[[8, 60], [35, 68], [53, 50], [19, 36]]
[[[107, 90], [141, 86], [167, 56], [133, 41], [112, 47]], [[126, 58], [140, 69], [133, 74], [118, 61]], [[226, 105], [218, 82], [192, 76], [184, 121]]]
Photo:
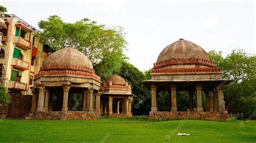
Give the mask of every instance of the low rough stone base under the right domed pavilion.
[[226, 120], [227, 112], [150, 112], [149, 119]]

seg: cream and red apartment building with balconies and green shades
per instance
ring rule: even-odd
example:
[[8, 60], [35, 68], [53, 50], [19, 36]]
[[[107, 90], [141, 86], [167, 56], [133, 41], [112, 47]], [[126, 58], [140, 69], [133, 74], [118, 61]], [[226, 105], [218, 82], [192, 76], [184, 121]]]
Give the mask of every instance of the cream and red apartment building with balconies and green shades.
[[38, 30], [15, 15], [3, 18], [6, 28], [0, 29], [0, 84], [8, 92], [32, 95], [30, 87], [44, 60], [49, 56], [36, 36]]

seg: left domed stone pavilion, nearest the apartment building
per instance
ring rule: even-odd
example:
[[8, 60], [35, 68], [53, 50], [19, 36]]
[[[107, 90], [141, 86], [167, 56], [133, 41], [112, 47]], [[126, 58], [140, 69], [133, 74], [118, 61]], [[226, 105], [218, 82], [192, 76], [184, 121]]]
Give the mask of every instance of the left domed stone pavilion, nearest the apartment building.
[[66, 47], [52, 53], [34, 83], [31, 112], [36, 112], [35, 118], [100, 117], [100, 77], [77, 49]]

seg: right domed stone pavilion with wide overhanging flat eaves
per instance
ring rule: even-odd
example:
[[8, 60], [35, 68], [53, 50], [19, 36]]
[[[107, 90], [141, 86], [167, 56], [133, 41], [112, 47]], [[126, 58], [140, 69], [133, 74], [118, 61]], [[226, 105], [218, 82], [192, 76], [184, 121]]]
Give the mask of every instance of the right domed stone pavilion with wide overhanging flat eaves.
[[[151, 79], [144, 81], [151, 90], [150, 118], [226, 119], [223, 86], [231, 81], [221, 78], [221, 69], [210, 61], [203, 48], [193, 42], [180, 39], [168, 45], [154, 63]], [[168, 91], [170, 111], [158, 110], [159, 91]], [[187, 91], [190, 96], [189, 112], [177, 112], [176, 91]], [[197, 105], [194, 112], [193, 95], [196, 91]], [[206, 95], [203, 111], [202, 91]]]

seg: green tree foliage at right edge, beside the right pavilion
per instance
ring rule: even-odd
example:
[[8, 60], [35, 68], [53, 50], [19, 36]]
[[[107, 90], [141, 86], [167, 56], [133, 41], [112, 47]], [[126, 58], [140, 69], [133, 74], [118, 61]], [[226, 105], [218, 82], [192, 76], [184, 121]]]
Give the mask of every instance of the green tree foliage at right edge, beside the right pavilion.
[[241, 49], [233, 50], [226, 58], [221, 52], [208, 54], [221, 67], [223, 78], [233, 80], [224, 87], [226, 110], [252, 115], [256, 108], [256, 56]]

